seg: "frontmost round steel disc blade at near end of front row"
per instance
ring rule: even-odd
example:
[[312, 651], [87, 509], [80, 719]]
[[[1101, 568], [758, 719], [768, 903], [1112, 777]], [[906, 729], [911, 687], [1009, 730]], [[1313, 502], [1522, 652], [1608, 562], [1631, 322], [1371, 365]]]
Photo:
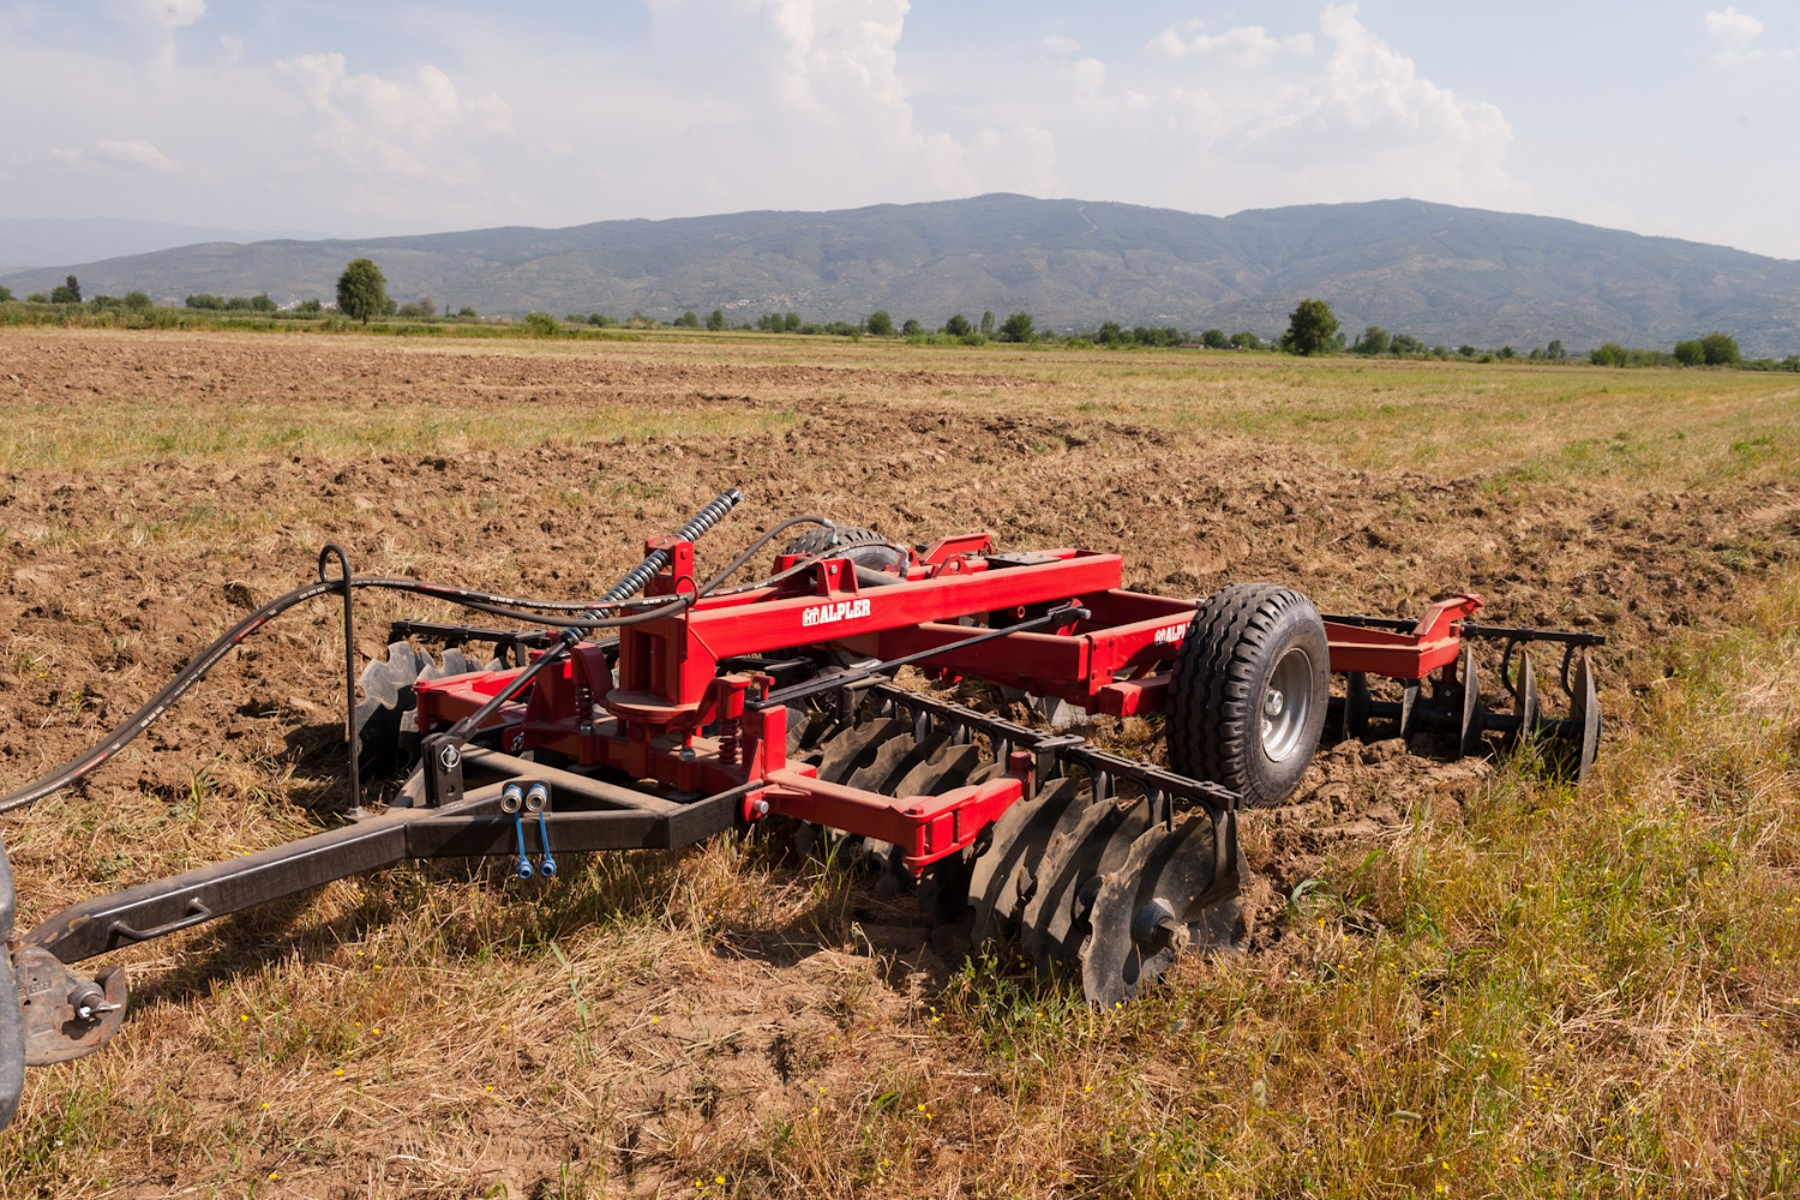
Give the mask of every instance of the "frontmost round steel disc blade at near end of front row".
[[1082, 946], [1082, 991], [1112, 1007], [1159, 979], [1183, 950], [1235, 943], [1238, 865], [1219, 864], [1213, 822], [1152, 826], [1102, 876]]

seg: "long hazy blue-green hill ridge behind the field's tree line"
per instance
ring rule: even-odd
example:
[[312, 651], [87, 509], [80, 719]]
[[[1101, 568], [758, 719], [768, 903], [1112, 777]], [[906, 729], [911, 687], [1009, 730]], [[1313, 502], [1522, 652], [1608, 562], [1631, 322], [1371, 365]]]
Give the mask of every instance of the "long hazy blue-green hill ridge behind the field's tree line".
[[1427, 344], [1571, 351], [1669, 347], [1712, 329], [1751, 356], [1800, 351], [1800, 263], [1557, 218], [1381, 200], [1228, 218], [992, 194], [837, 212], [734, 212], [571, 228], [414, 237], [203, 243], [18, 272], [18, 295], [74, 272], [86, 295], [331, 299], [367, 255], [398, 300], [484, 315], [724, 308], [857, 320], [886, 309], [936, 327], [952, 313], [1030, 311], [1039, 326], [1103, 320], [1278, 333], [1301, 297], [1346, 331], [1377, 324]]

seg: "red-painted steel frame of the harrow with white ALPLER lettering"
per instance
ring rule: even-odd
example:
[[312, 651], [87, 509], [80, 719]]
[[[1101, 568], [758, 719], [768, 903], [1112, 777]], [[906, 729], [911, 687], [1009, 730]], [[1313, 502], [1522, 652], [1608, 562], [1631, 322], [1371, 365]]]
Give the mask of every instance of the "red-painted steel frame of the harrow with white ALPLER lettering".
[[[652, 596], [697, 594], [691, 542], [653, 538], [646, 551], [668, 551], [671, 560], [652, 581]], [[979, 631], [959, 619], [1004, 626], [1033, 608], [1073, 603], [1091, 615], [1051, 631], [947, 649], [920, 666], [1118, 716], [1163, 705], [1193, 601], [1123, 590], [1118, 554], [1058, 549], [990, 560], [988, 551], [985, 534], [947, 538], [914, 552], [887, 587], [869, 587], [848, 560], [833, 558], [770, 587], [698, 597], [668, 617], [625, 626], [616, 671], [601, 648], [576, 646], [486, 729], [497, 730], [500, 747], [513, 754], [554, 750], [583, 766], [610, 766], [691, 795], [763, 783], [745, 795], [745, 817], [783, 813], [882, 838], [902, 847], [914, 873], [923, 871], [970, 846], [1022, 795], [1030, 756], [1015, 754], [1004, 775], [936, 797], [889, 797], [826, 783], [814, 766], [787, 761], [787, 709], [747, 707], [772, 680], [720, 675], [720, 662], [821, 644], [898, 658]], [[778, 574], [799, 561], [779, 558]], [[1411, 633], [1327, 622], [1330, 667], [1422, 678], [1456, 658], [1458, 622], [1480, 604], [1474, 596], [1438, 603]], [[473, 712], [515, 673], [421, 680], [419, 729]]]

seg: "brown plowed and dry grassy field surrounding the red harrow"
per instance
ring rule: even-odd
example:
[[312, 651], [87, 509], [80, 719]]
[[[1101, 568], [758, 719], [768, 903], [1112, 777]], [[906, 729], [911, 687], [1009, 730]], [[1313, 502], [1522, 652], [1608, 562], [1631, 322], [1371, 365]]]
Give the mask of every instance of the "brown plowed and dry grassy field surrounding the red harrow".
[[[0, 788], [328, 540], [358, 572], [581, 597], [727, 486], [749, 504], [713, 563], [824, 513], [1118, 549], [1177, 596], [1476, 590], [1496, 622], [1611, 639], [1582, 793], [1332, 748], [1244, 824], [1253, 952], [1127, 1011], [965, 964], [909, 903], [756, 840], [549, 889], [401, 869], [121, 955], [131, 1016], [31, 1074], [9, 1196], [1793, 1182], [1791, 376], [0, 331]], [[437, 615], [369, 601], [360, 649], [403, 612]], [[22, 928], [329, 824], [335, 639], [329, 604], [277, 621], [86, 790], [4, 819]], [[1161, 754], [1152, 721], [1105, 736]]]

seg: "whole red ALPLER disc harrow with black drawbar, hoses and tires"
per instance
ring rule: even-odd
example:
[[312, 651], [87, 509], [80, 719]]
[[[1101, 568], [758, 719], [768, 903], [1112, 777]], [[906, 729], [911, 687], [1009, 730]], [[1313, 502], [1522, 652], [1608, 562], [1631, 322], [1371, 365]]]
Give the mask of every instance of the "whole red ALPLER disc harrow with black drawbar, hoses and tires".
[[[1535, 748], [1575, 779], [1595, 761], [1586, 655], [1604, 639], [1478, 624], [1476, 596], [1418, 621], [1321, 617], [1280, 585], [1150, 596], [1123, 588], [1118, 554], [1001, 552], [981, 533], [904, 545], [821, 516], [779, 522], [698, 576], [695, 542], [740, 500], [725, 491], [648, 538], [598, 599], [364, 578], [328, 545], [315, 581], [243, 617], [86, 754], [0, 797], [5, 811], [88, 777], [270, 619], [340, 599], [344, 824], [79, 901], [11, 939], [0, 1123], [25, 1063], [79, 1058], [126, 1024], [124, 970], [88, 973], [86, 959], [403, 860], [502, 858], [544, 887], [558, 856], [679, 849], [787, 817], [803, 840], [878, 862], [878, 889], [914, 887], [929, 921], [1111, 1007], [1184, 954], [1242, 946], [1240, 810], [1283, 802], [1327, 727], [1451, 754]], [[725, 587], [801, 525], [767, 576]], [[400, 621], [358, 671], [365, 588], [508, 624]], [[1501, 648], [1498, 709], [1483, 644]], [[1562, 649], [1562, 718], [1544, 712], [1530, 657], [1546, 644]], [[902, 667], [927, 687], [1022, 696], [1042, 727], [902, 687]], [[1087, 714], [1161, 720], [1168, 765], [1094, 747]], [[405, 779], [365, 797], [360, 779], [380, 774]], [[13, 900], [0, 853], [0, 934]]]

